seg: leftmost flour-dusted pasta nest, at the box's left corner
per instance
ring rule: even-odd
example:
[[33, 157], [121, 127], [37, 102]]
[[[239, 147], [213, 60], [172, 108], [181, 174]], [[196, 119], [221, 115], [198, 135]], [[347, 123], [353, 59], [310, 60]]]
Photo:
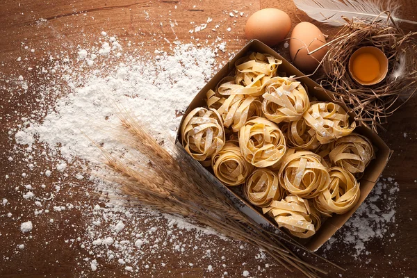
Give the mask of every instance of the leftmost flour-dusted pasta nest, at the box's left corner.
[[222, 118], [215, 110], [195, 108], [181, 126], [182, 145], [196, 161], [210, 165], [208, 158], [220, 152], [225, 136]]

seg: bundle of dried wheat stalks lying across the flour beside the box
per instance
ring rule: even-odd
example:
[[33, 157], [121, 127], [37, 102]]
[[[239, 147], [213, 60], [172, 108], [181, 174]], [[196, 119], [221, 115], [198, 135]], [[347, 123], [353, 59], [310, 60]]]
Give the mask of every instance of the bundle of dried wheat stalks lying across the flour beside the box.
[[124, 133], [118, 138], [149, 161], [138, 155], [128, 163], [99, 148], [106, 158], [106, 169], [114, 173], [106, 178], [120, 184], [122, 193], [133, 205], [182, 215], [201, 227], [210, 227], [224, 236], [260, 247], [288, 270], [293, 271], [290, 267], [293, 266], [306, 277], [318, 277], [317, 272], [327, 274], [300, 259], [279, 241], [280, 236], [266, 231], [239, 211], [219, 188], [188, 163], [188, 158], [184, 159], [181, 153], [175, 158], [129, 113], [120, 113], [120, 121]]

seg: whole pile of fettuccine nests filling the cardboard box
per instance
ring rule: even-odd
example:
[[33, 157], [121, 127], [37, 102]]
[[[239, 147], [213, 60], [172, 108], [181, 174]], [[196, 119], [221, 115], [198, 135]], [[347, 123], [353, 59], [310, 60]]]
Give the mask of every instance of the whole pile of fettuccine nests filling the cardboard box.
[[181, 140], [225, 186], [243, 185], [250, 204], [309, 238], [323, 219], [357, 205], [358, 179], [375, 154], [342, 106], [277, 76], [281, 63], [256, 52], [236, 60], [206, 92], [206, 108], [186, 115]]

